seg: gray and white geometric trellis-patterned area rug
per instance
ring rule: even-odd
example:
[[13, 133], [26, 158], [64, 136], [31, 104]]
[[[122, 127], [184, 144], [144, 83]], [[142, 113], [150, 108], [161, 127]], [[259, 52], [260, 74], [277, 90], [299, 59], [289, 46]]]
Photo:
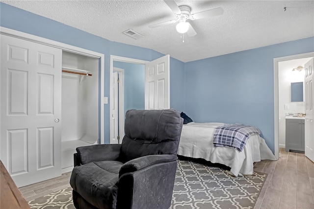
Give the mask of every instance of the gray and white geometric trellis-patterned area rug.
[[[252, 209], [267, 174], [234, 177], [194, 160], [178, 160], [170, 209]], [[75, 209], [72, 188], [28, 201], [32, 209]]]

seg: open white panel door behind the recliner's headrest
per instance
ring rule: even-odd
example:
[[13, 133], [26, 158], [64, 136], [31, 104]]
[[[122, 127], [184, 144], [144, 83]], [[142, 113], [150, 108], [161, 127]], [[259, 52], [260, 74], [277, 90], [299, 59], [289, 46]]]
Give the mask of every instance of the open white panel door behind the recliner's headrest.
[[170, 108], [170, 56], [145, 64], [145, 109]]

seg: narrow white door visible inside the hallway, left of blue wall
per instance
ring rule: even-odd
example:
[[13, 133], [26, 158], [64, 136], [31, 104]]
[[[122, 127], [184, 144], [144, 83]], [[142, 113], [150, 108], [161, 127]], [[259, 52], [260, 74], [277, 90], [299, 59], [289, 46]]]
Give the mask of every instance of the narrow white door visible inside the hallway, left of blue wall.
[[112, 74], [112, 115], [111, 115], [111, 126], [110, 126], [110, 144], [119, 143], [119, 81], [118, 72]]

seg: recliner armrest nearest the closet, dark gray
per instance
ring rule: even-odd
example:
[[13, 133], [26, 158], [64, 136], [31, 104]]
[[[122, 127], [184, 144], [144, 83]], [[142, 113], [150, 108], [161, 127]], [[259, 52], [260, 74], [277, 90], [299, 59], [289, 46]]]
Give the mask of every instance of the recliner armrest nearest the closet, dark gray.
[[121, 144], [96, 144], [77, 148], [76, 163], [86, 164], [94, 161], [118, 160]]

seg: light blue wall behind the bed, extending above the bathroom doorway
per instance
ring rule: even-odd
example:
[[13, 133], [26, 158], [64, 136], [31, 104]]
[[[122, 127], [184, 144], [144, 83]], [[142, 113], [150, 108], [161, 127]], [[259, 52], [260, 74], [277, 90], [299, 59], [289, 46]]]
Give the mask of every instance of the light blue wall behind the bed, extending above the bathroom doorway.
[[256, 126], [274, 152], [273, 61], [307, 52], [314, 52], [314, 37], [185, 63], [186, 114]]

